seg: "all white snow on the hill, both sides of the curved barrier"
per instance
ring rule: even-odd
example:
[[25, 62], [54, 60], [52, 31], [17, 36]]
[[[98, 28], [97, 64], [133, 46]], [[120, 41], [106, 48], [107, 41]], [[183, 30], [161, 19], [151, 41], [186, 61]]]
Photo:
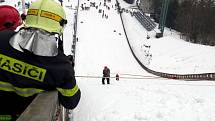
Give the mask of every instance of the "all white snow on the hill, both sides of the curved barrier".
[[[98, 8], [79, 7], [75, 74], [83, 76], [76, 78], [82, 97], [71, 111], [71, 121], [215, 121], [215, 82], [170, 80], [145, 72], [130, 52], [115, 0], [106, 3], [109, 10], [100, 0], [80, 0], [80, 5], [88, 7], [90, 2]], [[130, 6], [119, 2], [122, 7]], [[64, 32], [67, 55], [71, 54], [76, 5], [77, 1], [64, 1], [69, 21]], [[134, 17], [127, 13], [122, 17], [132, 49], [150, 69], [179, 74], [214, 72], [214, 47], [185, 42], [168, 29], [163, 38], [155, 39], [152, 31], [146, 39], [147, 32]], [[104, 66], [110, 68], [112, 77], [118, 73], [120, 80], [111, 78], [110, 85], [102, 85]]]

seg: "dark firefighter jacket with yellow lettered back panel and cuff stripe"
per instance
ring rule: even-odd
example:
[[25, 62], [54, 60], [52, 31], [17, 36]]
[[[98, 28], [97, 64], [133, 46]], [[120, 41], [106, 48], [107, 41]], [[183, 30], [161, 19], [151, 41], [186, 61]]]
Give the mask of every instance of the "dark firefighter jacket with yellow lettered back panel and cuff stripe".
[[54, 57], [20, 52], [9, 44], [14, 34], [10, 30], [0, 32], [0, 90], [23, 97], [57, 90], [60, 103], [75, 108], [81, 93], [69, 59], [62, 52]]

